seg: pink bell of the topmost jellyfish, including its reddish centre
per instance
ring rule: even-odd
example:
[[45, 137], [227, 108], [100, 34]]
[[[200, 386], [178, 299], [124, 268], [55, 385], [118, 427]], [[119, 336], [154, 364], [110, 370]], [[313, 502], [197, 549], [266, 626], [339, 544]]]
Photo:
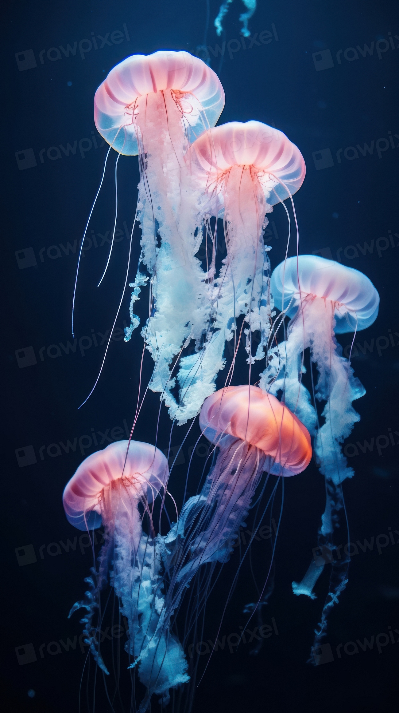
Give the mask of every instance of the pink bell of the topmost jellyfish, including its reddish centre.
[[134, 54], [97, 89], [95, 125], [119, 153], [137, 155], [149, 148], [156, 130], [161, 130], [160, 141], [165, 130], [172, 130], [180, 143], [178, 128], [186, 128], [194, 140], [216, 124], [224, 103], [218, 76], [198, 57], [167, 50]]

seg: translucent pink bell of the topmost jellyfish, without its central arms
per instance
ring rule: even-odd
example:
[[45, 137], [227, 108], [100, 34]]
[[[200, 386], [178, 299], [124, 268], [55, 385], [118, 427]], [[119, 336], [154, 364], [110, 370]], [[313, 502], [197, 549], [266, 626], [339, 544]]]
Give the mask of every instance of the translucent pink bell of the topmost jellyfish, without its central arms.
[[95, 93], [97, 130], [119, 153], [137, 155], [137, 103], [162, 91], [172, 91], [179, 102], [190, 142], [216, 124], [225, 103], [218, 76], [198, 57], [167, 50], [134, 54], [112, 68]]

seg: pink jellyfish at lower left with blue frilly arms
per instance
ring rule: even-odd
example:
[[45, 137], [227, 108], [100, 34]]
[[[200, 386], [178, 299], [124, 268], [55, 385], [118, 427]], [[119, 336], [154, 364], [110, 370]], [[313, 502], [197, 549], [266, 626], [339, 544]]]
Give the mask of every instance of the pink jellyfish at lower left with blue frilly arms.
[[[100, 566], [98, 571], [92, 568], [92, 575], [85, 579], [90, 590], [83, 601], [73, 605], [70, 615], [81, 608], [87, 611], [81, 620], [86, 643], [97, 664], [108, 674], [93, 618], [100, 608], [100, 590], [107, 583], [109, 568], [119, 610], [129, 625], [125, 649], [132, 660], [131, 667], [137, 665], [139, 679], [147, 687], [140, 710], [147, 709], [151, 693], [161, 695], [166, 704], [169, 688], [188, 681], [187, 663], [176, 637], [161, 632], [154, 645], [164, 595], [151, 504], [166, 488], [168, 475], [166, 458], [158, 448], [139, 441], [117, 441], [85, 458], [63, 493], [65, 514], [75, 528], [90, 531], [101, 523], [105, 527]], [[148, 516], [149, 534], [143, 531], [144, 515]]]

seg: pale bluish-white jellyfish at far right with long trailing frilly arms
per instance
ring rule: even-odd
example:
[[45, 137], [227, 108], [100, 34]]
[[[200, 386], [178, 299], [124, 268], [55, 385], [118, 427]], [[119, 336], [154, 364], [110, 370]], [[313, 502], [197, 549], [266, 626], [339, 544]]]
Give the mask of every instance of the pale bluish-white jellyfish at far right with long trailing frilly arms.
[[[269, 394], [281, 392], [282, 402], [314, 436], [316, 463], [326, 483], [326, 508], [321, 516], [318, 544], [326, 553], [324, 562], [331, 562], [332, 568], [329, 593], [316, 630], [314, 645], [318, 645], [326, 632], [329, 610], [338, 602], [348, 581], [349, 558], [333, 560], [331, 553], [334, 530], [343, 518], [346, 520], [342, 483], [353, 476], [353, 468], [341, 452], [341, 443], [360, 419], [352, 402], [366, 393], [353, 376], [349, 359], [342, 356], [335, 334], [356, 334], [373, 324], [380, 298], [366, 275], [317, 255], [299, 255], [282, 262], [272, 272], [270, 289], [275, 306], [291, 321], [285, 341], [268, 353], [260, 387]], [[302, 384], [302, 374], [306, 373], [304, 349], [308, 347], [312, 386], [312, 363], [319, 372], [314, 398], [325, 402], [322, 424], [309, 391]], [[323, 568], [323, 562], [316, 565], [312, 560], [302, 582], [292, 583], [294, 594], [316, 598], [313, 588]]]

